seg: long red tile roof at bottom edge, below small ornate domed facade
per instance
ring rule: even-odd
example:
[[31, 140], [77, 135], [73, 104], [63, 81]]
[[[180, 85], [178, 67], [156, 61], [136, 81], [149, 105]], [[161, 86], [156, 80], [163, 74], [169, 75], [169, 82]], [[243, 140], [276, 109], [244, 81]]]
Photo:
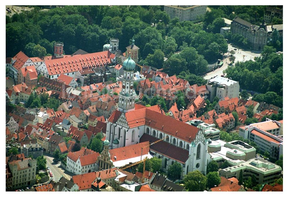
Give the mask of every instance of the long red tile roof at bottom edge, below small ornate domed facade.
[[91, 184], [95, 181], [96, 178], [100, 177], [101, 180], [105, 182], [105, 179], [113, 179], [116, 177], [117, 168], [112, 168], [108, 170], [98, 171], [98, 172], [89, 172], [86, 174], [79, 174], [72, 177], [73, 183], [76, 183], [79, 187], [79, 190], [90, 189]]

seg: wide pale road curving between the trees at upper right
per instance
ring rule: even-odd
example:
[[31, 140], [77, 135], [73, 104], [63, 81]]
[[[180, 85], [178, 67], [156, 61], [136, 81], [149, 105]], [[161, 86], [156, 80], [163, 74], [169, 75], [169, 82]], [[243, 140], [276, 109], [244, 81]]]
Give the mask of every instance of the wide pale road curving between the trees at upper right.
[[[231, 44], [228, 44], [228, 51], [234, 50], [236, 47], [233, 47]], [[242, 49], [237, 49], [234, 50], [235, 54], [234, 56], [236, 57], [234, 62], [245, 62], [249, 60], [254, 60], [254, 57], [260, 57], [261, 53], [253, 53], [251, 51], [243, 51]], [[228, 65], [230, 64], [229, 61], [229, 53], [225, 53], [224, 55], [228, 55], [226, 59], [223, 60], [223, 66], [221, 68], [217, 68], [216, 70], [207, 73], [203, 78], [204, 79], [211, 79], [212, 77], [215, 77], [216, 75], [221, 76], [223, 74], [223, 71], [226, 70]], [[245, 55], [245, 56], [243, 56]], [[228, 63], [228, 64], [227, 64]]]

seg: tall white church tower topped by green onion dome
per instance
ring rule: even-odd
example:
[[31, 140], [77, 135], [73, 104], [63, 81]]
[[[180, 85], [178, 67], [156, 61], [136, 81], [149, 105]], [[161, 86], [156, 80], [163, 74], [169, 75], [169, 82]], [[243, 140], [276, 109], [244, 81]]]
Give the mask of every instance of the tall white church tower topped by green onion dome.
[[134, 110], [134, 69], [136, 63], [129, 57], [123, 62], [123, 87], [119, 94], [118, 110], [127, 112]]

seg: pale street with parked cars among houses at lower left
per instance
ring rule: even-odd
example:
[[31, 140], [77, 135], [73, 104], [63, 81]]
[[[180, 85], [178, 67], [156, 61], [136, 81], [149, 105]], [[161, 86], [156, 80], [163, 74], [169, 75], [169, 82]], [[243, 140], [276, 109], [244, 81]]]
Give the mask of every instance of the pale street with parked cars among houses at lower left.
[[75, 175], [75, 174], [68, 172], [67, 170], [64, 170], [60, 166], [60, 162], [55, 163], [53, 161], [53, 157], [47, 154], [45, 154], [44, 157], [46, 158], [46, 166], [50, 168], [54, 181], [58, 181], [61, 176], [64, 176], [66, 179], [70, 180], [70, 177]]

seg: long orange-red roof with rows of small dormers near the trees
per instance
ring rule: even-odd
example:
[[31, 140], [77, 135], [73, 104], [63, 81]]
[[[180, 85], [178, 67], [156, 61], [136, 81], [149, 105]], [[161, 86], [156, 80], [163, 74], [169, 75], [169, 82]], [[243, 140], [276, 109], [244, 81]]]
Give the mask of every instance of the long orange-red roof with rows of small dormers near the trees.
[[49, 75], [77, 72], [111, 64], [115, 56], [110, 51], [74, 55], [63, 58], [45, 60]]

